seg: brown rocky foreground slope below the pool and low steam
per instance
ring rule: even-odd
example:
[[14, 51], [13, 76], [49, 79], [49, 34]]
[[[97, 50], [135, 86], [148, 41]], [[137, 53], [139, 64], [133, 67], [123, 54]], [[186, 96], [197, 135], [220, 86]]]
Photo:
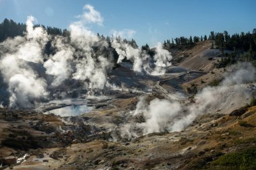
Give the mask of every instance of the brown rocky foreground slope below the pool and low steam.
[[[119, 101], [121, 102], [123, 101]], [[119, 107], [131, 104], [127, 101], [125, 103]], [[26, 162], [16, 164], [13, 169], [246, 167], [252, 165], [250, 155], [244, 158], [245, 161], [235, 163], [228, 162], [227, 157], [230, 153], [239, 157], [241, 153], [255, 150], [255, 111], [255, 107], [249, 107], [232, 114], [207, 114], [199, 116], [189, 128], [181, 132], [153, 133], [130, 142], [110, 142], [106, 140], [107, 134], [100, 133], [95, 137], [89, 135], [89, 141], [77, 139], [85, 138], [90, 132], [86, 129], [92, 129], [82, 125], [83, 123], [77, 123], [79, 118], [73, 120], [73, 125], [68, 125], [54, 115], [42, 117], [41, 114], [30, 112], [25, 116], [24, 111], [1, 109], [1, 157], [5, 157], [2, 161], [9, 165], [13, 163], [11, 158], [23, 157], [25, 153], [30, 155], [26, 157]], [[66, 129], [65, 132], [59, 131], [59, 127]], [[43, 138], [47, 140], [42, 140]], [[246, 150], [247, 148], [250, 150]]]

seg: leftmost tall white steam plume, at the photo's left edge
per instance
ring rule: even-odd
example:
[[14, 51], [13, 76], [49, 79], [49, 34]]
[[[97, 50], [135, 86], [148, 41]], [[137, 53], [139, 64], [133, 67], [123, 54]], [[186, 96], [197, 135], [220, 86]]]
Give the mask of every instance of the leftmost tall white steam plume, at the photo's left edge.
[[33, 28], [33, 21], [34, 17], [29, 16], [24, 38], [18, 36], [1, 43], [3, 48], [9, 49], [1, 59], [0, 69], [9, 84], [11, 107], [30, 108], [48, 95], [46, 82], [29, 65], [29, 62], [42, 62], [42, 47], [48, 40], [42, 28]]

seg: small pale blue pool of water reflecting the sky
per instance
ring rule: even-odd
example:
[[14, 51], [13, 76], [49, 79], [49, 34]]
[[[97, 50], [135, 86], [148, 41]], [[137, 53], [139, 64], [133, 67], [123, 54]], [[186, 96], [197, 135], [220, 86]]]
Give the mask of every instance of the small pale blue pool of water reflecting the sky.
[[63, 108], [50, 110], [44, 112], [44, 114], [55, 114], [57, 116], [66, 117], [66, 116], [79, 116], [81, 114], [86, 114], [92, 111], [93, 107], [87, 105], [69, 105]]

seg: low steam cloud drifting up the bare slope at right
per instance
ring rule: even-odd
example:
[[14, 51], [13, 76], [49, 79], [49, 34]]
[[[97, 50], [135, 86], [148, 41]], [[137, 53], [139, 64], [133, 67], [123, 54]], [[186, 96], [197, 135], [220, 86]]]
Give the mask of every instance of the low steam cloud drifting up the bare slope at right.
[[[197, 93], [189, 105], [157, 98], [147, 103], [146, 97], [140, 97], [133, 115], [143, 115], [145, 122], [133, 126], [141, 128], [143, 134], [181, 131], [202, 114], [229, 113], [242, 107], [251, 97], [246, 83], [255, 81], [255, 69], [250, 63], [243, 63], [236, 65], [233, 71], [226, 74], [220, 85], [205, 87]], [[125, 125], [124, 128], [121, 136], [132, 138], [138, 135], [133, 131], [134, 127]]]

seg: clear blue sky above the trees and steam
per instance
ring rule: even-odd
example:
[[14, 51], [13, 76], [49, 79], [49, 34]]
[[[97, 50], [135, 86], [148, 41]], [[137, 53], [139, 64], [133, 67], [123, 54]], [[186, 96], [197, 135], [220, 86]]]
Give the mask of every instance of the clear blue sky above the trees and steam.
[[38, 24], [64, 29], [77, 21], [86, 4], [104, 18], [102, 26], [89, 26], [92, 31], [111, 35], [113, 30], [134, 30], [139, 45], [212, 30], [232, 34], [256, 28], [255, 0], [0, 0], [0, 20], [26, 22], [33, 15]]

